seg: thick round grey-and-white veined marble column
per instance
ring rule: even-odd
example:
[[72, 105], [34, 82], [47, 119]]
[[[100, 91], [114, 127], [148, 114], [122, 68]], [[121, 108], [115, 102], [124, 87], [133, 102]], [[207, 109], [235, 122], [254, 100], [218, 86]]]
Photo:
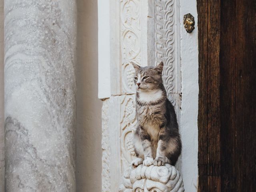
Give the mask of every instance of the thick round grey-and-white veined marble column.
[[5, 0], [6, 192], [75, 192], [76, 0]]

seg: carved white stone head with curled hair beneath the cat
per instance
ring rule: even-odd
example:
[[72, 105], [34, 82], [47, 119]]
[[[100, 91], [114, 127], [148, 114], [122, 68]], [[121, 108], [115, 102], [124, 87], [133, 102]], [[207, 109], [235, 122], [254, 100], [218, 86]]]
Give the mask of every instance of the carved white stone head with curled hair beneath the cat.
[[143, 166], [124, 172], [118, 192], [184, 192], [180, 173], [170, 164]]

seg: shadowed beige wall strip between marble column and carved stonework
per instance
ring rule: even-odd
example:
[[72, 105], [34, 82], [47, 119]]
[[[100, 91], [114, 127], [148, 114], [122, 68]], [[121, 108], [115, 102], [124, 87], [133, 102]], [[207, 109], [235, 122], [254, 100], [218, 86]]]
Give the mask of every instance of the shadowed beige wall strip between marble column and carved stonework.
[[76, 191], [101, 191], [101, 108], [98, 99], [98, 6], [77, 0]]

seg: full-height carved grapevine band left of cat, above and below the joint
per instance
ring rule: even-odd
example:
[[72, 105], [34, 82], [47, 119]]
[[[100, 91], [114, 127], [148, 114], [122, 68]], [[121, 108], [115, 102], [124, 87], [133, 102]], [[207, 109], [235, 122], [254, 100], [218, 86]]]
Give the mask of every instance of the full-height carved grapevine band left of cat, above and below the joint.
[[[122, 65], [122, 94], [135, 94], [131, 61], [141, 62], [141, 0], [120, 0], [120, 48]], [[135, 95], [123, 96], [121, 102], [121, 164], [122, 171], [135, 157], [132, 143], [136, 129]]]

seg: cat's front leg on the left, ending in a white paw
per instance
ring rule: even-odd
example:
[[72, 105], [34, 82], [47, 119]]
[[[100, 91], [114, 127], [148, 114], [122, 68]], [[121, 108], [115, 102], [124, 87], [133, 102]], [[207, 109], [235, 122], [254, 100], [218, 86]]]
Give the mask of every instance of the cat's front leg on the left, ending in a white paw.
[[150, 166], [153, 164], [154, 161], [151, 149], [150, 136], [142, 128], [140, 128], [140, 139], [144, 150], [143, 165]]

